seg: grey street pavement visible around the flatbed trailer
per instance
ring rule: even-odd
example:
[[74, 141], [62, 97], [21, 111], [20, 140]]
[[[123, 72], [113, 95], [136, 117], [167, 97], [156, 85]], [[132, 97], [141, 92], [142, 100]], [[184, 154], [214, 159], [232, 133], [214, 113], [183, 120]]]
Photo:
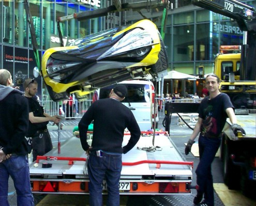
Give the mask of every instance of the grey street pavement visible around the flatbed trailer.
[[[80, 121], [80, 118], [79, 119], [70, 119], [68, 121], [67, 120], [63, 121], [65, 126], [64, 126], [63, 131], [61, 132], [61, 138], [60, 138], [61, 143], [64, 142], [66, 139], [68, 139], [69, 137], [71, 137], [73, 135], [73, 128], [74, 128], [74, 126], [78, 125], [79, 121]], [[159, 118], [159, 123], [158, 123], [158, 129], [164, 129], [164, 127], [162, 126], [162, 121], [163, 121], [163, 118], [160, 117]], [[190, 121], [190, 125], [193, 126], [194, 123], [192, 121]], [[53, 146], [57, 147], [57, 143], [58, 143], [57, 127], [48, 125], [48, 129], [50, 130], [50, 133], [51, 133]], [[196, 185], [196, 178], [195, 178], [196, 176], [194, 174], [194, 171], [195, 171], [195, 168], [197, 168], [197, 165], [199, 163], [199, 158], [192, 155], [192, 153], [189, 153], [188, 156], [186, 156], [185, 153], [184, 153], [185, 143], [188, 141], [189, 135], [191, 133], [192, 133], [192, 130], [189, 129], [184, 124], [180, 123], [177, 118], [174, 117], [172, 119], [171, 127], [170, 127], [170, 136], [171, 136], [173, 142], [175, 143], [177, 149], [182, 153], [182, 155], [187, 159], [187, 161], [193, 161], [194, 162], [194, 169], [193, 169], [193, 177], [194, 178], [192, 179], [192, 185]], [[228, 188], [225, 187], [225, 185], [223, 183], [222, 171], [223, 171], [222, 163], [221, 163], [220, 159], [218, 157], [216, 157], [213, 164], [212, 164], [212, 173], [213, 173], [213, 180], [214, 180], [214, 187], [215, 187], [215, 205], [216, 206], [222, 206], [222, 205], [225, 205], [225, 206], [256, 205], [256, 201], [254, 201], [254, 200], [250, 200], [250, 199], [244, 200], [244, 197], [241, 194], [239, 194], [239, 191], [229, 191]], [[195, 190], [192, 190], [192, 194], [189, 195], [189, 196], [176, 195], [175, 198], [174, 198], [175, 200], [172, 199], [171, 200], [172, 203], [170, 203], [168, 205], [178, 205], [178, 206], [179, 205], [193, 205], [193, 204], [191, 204], [191, 202], [192, 202], [193, 197], [195, 195], [196, 195]], [[55, 196], [52, 195], [52, 196], [55, 197], [55, 198], [57, 197], [56, 195]], [[43, 201], [42, 201], [41, 203], [36, 204], [36, 205], [38, 205], [38, 206], [39, 205], [55, 205], [55, 204], [51, 204], [49, 202], [50, 199], [52, 199], [52, 196], [50, 195], [48, 198], [44, 199], [44, 202], [48, 201], [48, 203], [43, 204]], [[9, 200], [10, 206], [16, 206], [17, 205], [16, 197], [17, 196], [16, 196], [15, 188], [14, 188], [13, 182], [10, 178], [9, 179], [9, 190], [8, 190], [8, 200]], [[166, 196], [166, 197], [169, 198], [168, 196]], [[42, 198], [44, 198], [44, 196], [37, 196], [35, 198], [36, 198], [37, 202], [40, 202], [40, 200]], [[85, 197], [83, 197], [83, 198], [85, 198]], [[152, 199], [154, 197], [150, 197], [150, 198]], [[63, 196], [60, 195], [59, 199], [60, 200], [63, 199]], [[135, 199], [138, 199], [138, 200], [136, 200], [136, 202], [139, 202], [140, 197], [139, 196], [135, 197]], [[142, 197], [142, 201], [143, 201], [143, 199], [145, 199], [145, 198]], [[242, 202], [239, 202], [240, 200], [242, 200]], [[174, 203], [175, 201], [177, 203]], [[232, 203], [232, 201], [234, 201], [234, 203]], [[190, 202], [190, 204], [187, 204], [188, 202]], [[67, 205], [67, 204], [58, 204], [58, 205]], [[80, 205], [80, 204], [71, 204], [70, 203], [68, 205]], [[126, 204], [126, 205], [129, 205], [129, 204]], [[134, 203], [131, 203], [130, 205], [135, 206]]]

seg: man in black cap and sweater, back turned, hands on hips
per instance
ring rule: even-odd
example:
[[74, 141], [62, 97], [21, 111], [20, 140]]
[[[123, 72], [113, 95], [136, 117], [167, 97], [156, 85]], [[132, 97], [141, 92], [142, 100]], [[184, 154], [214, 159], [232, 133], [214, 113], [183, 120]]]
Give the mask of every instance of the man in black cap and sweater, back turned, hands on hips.
[[[122, 153], [127, 153], [139, 141], [141, 131], [131, 112], [121, 101], [127, 95], [124, 84], [117, 84], [109, 98], [95, 101], [79, 122], [80, 141], [88, 155], [89, 205], [102, 205], [102, 181], [108, 186], [107, 205], [119, 206], [119, 179]], [[88, 126], [94, 121], [92, 146], [87, 143]], [[130, 140], [122, 147], [124, 130]]]

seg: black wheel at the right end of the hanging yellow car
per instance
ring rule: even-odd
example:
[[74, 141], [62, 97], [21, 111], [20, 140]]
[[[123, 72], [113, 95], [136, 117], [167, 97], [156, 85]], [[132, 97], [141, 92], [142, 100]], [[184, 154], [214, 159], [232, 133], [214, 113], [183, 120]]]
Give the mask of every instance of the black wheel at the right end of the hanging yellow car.
[[149, 73], [153, 72], [154, 74], [157, 74], [158, 72], [162, 72], [164, 70], [167, 70], [168, 68], [168, 55], [167, 55], [167, 50], [164, 46], [162, 37], [160, 33], [158, 33], [159, 39], [160, 39], [160, 45], [161, 45], [161, 50], [158, 54], [158, 60], [157, 62], [152, 65], [151, 70], [149, 70]]

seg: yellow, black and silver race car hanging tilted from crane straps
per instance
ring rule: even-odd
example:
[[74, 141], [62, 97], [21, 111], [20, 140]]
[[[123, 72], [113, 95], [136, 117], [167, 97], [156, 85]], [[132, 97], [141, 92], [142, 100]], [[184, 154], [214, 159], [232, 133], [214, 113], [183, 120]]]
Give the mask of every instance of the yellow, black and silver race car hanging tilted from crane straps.
[[54, 101], [74, 93], [78, 100], [98, 88], [151, 74], [167, 73], [168, 56], [156, 25], [141, 20], [46, 50], [42, 77]]

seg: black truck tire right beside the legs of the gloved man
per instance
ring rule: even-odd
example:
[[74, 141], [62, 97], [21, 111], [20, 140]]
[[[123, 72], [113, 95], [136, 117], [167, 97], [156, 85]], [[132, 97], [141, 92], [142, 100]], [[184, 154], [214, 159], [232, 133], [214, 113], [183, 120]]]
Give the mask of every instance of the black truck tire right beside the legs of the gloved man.
[[[224, 138], [225, 136], [223, 136]], [[228, 139], [228, 138], [226, 138]], [[229, 190], [238, 190], [240, 177], [240, 168], [232, 163], [230, 158], [231, 152], [228, 146], [228, 140], [223, 142], [223, 179], [224, 183], [228, 186]]]

